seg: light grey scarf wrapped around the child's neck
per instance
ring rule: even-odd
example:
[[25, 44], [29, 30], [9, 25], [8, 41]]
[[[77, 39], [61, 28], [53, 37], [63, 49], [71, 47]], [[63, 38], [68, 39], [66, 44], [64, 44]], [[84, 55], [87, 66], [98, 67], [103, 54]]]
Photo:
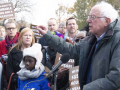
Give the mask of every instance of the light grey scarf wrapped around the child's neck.
[[44, 71], [44, 66], [41, 65], [38, 70], [33, 69], [32, 71], [30, 71], [27, 70], [26, 68], [23, 68], [20, 71], [18, 71], [17, 74], [20, 80], [27, 80], [30, 78], [38, 78], [43, 71]]

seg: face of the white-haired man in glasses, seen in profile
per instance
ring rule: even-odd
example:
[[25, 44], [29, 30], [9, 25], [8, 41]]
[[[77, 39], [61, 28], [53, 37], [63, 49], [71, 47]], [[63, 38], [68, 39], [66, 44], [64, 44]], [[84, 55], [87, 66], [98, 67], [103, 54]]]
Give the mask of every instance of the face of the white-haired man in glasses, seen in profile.
[[103, 17], [100, 14], [99, 8], [94, 7], [90, 11], [89, 17], [87, 19], [87, 22], [89, 23], [89, 32], [93, 33], [97, 37], [100, 37], [106, 31], [106, 19], [106, 17]]

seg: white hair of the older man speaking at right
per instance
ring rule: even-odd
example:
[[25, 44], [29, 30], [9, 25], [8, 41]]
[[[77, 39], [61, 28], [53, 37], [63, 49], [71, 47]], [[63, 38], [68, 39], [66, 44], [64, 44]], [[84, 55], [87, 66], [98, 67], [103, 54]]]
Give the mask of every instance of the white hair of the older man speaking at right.
[[[94, 7], [99, 7], [99, 9], [101, 11], [101, 15], [103, 17], [110, 18], [111, 22], [114, 22], [119, 17], [117, 10], [115, 10], [111, 4], [109, 4], [105, 1], [97, 3]], [[103, 18], [101, 18], [101, 19], [103, 19]]]

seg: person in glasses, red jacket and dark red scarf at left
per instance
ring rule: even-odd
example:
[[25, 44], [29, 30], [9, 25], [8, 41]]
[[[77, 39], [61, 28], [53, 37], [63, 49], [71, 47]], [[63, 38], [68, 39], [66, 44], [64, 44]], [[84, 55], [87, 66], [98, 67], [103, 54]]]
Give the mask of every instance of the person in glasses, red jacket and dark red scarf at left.
[[[0, 57], [2, 58], [2, 63], [4, 66], [4, 75], [6, 77], [6, 79], [5, 78], [4, 79], [7, 80], [8, 82], [5, 64], [7, 60], [6, 54], [8, 54], [10, 48], [18, 42], [19, 33], [17, 33], [18, 31], [17, 23], [12, 19], [6, 22], [5, 29], [6, 29], [5, 40], [0, 41]], [[4, 85], [3, 87], [6, 88], [6, 85]]]

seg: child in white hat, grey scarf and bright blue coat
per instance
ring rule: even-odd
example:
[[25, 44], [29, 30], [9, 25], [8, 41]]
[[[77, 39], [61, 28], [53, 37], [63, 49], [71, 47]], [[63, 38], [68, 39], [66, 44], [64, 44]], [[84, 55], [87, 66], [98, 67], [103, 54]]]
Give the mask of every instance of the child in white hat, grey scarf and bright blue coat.
[[35, 43], [32, 47], [24, 49], [21, 70], [17, 72], [17, 90], [50, 90], [48, 80], [44, 76], [46, 73], [41, 63], [42, 58], [40, 44]]

